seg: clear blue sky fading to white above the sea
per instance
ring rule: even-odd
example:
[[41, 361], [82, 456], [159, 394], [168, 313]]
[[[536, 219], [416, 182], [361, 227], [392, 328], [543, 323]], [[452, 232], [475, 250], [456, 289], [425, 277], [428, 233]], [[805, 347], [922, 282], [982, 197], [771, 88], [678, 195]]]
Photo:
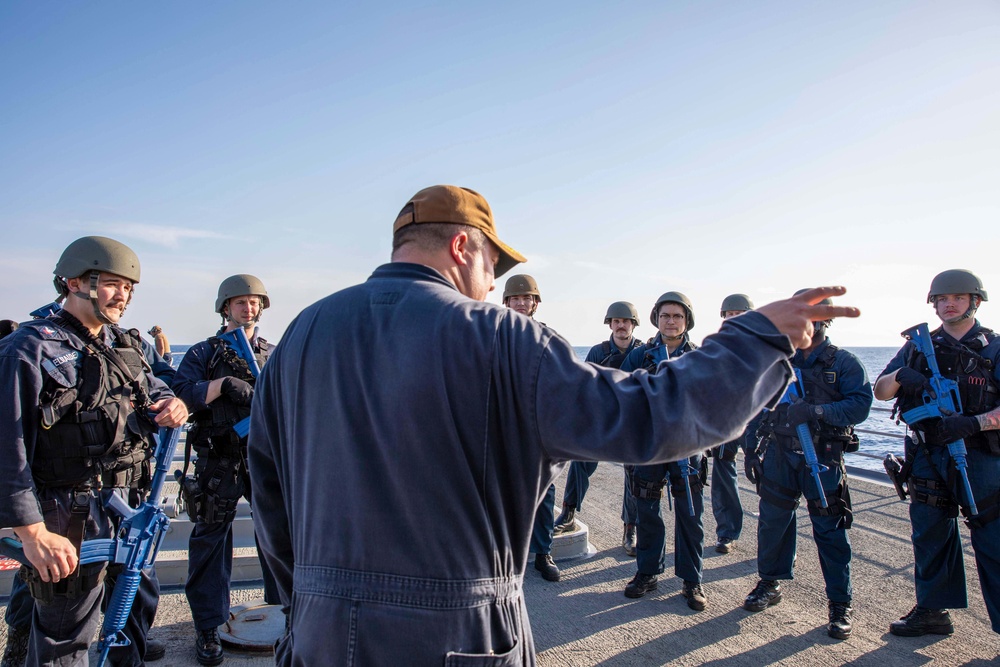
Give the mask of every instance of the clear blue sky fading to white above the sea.
[[1000, 327], [996, 2], [11, 0], [0, 96], [0, 317], [101, 234], [142, 260], [125, 324], [203, 339], [248, 272], [278, 339], [388, 260], [411, 194], [454, 183], [575, 345], [611, 301], [648, 337], [685, 292], [700, 339], [727, 294], [815, 284], [864, 311], [837, 343], [897, 345], [956, 267]]

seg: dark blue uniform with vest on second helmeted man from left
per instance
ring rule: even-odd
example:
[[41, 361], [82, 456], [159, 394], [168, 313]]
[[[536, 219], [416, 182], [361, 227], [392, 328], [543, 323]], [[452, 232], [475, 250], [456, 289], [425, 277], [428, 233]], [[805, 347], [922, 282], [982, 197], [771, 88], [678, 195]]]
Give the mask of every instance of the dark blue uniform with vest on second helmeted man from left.
[[[274, 346], [257, 336], [252, 338], [250, 344], [257, 355], [258, 364], [263, 366]], [[216, 513], [210, 517], [201, 514], [192, 517], [194, 528], [188, 545], [188, 578], [184, 592], [191, 606], [195, 629], [199, 632], [217, 628], [229, 620], [233, 519], [240, 497], [250, 500], [251, 496], [245, 461], [246, 438], [238, 439], [235, 432], [230, 434], [232, 426], [239, 420], [227, 418], [228, 413], [226, 417], [216, 417], [222, 408], [233, 409], [232, 401], [222, 395], [212, 404], [205, 402], [212, 380], [236, 374], [226, 362], [224, 352], [235, 354], [228, 342], [217, 338], [191, 346], [171, 385], [194, 416], [195, 426], [188, 432], [188, 439], [198, 452], [195, 478], [201, 491], [204, 493], [209, 486], [217, 485], [211, 492], [217, 499], [232, 506], [231, 512], [225, 517]], [[278, 604], [274, 577], [263, 557], [260, 564], [264, 578], [264, 600], [268, 604]]]

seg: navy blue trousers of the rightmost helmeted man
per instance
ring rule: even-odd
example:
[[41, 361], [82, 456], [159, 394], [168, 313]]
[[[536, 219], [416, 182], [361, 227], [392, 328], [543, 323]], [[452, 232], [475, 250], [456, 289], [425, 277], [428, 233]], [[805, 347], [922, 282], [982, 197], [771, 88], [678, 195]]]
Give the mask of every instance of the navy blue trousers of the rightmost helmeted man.
[[[917, 447], [913, 476], [938, 479], [933, 472], [937, 469], [940, 479], [947, 480], [947, 448], [933, 447], [930, 454], [928, 461], [923, 448]], [[969, 484], [982, 513], [989, 509], [982, 501], [1000, 493], [1000, 456], [970, 450], [968, 464]], [[957, 477], [955, 484], [961, 485]], [[957, 497], [964, 501], [964, 491], [958, 491]], [[950, 518], [944, 509], [911, 502], [910, 522], [913, 525], [913, 578], [917, 604], [931, 609], [968, 607], [958, 519]], [[986, 611], [989, 612], [993, 632], [1000, 633], [1000, 521], [990, 521], [981, 528], [971, 528], [970, 532]]]

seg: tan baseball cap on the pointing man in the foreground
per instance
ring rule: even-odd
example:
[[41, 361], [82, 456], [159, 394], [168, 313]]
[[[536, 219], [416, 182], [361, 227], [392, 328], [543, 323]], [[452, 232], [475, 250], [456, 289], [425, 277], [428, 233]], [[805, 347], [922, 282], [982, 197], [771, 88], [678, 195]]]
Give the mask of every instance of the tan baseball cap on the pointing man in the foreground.
[[420, 222], [444, 222], [468, 225], [483, 232], [500, 250], [494, 275], [500, 277], [520, 262], [528, 261], [524, 255], [511, 248], [497, 236], [493, 211], [486, 198], [475, 190], [455, 185], [432, 185], [424, 188], [406, 202], [392, 226], [395, 234], [403, 227]]

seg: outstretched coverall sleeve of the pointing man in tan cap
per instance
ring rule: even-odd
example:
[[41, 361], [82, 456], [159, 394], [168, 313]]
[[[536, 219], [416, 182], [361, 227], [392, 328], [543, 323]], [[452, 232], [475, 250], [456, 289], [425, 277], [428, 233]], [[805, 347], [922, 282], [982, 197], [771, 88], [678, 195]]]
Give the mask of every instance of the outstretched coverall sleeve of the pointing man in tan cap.
[[652, 373], [582, 365], [551, 339], [534, 397], [541, 445], [555, 460], [643, 464], [698, 454], [738, 437], [780, 398], [792, 352], [788, 337], [756, 313], [723, 323], [701, 349]]

